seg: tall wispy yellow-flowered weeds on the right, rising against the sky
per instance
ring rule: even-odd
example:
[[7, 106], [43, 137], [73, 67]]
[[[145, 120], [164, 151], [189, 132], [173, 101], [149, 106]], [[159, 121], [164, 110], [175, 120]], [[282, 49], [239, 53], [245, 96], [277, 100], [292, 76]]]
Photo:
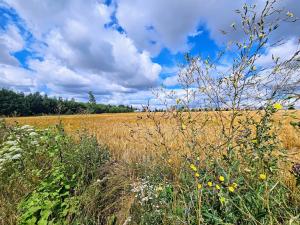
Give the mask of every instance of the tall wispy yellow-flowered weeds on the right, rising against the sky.
[[[231, 41], [214, 59], [187, 55], [181, 90], [157, 91], [167, 111], [146, 117], [153, 126], [145, 138], [158, 151], [133, 189], [137, 224], [299, 224], [298, 164], [287, 160], [274, 117], [299, 100], [300, 52], [259, 64], [268, 45], [282, 44], [271, 43], [272, 33], [297, 20], [276, 4], [267, 1], [261, 11], [245, 4], [237, 10], [241, 23], [231, 25], [242, 40]], [[224, 69], [222, 57], [230, 52], [235, 56]], [[199, 104], [214, 110], [194, 112]], [[169, 138], [162, 118], [173, 124]]]

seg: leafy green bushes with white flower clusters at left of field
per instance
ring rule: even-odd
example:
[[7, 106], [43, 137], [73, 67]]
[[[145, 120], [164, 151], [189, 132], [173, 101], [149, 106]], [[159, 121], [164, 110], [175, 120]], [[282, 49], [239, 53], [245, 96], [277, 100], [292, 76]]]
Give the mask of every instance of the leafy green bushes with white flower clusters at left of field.
[[1, 123], [0, 133], [0, 221], [71, 223], [84, 209], [85, 191], [109, 161], [106, 147], [87, 135], [75, 141], [61, 127], [36, 130]]

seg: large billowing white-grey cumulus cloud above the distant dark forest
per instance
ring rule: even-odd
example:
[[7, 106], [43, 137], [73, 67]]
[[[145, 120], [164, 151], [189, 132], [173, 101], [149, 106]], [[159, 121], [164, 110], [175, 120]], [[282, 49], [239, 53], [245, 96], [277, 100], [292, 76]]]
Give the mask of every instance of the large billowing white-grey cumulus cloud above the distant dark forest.
[[96, 95], [111, 96], [157, 85], [161, 66], [124, 33], [106, 26], [111, 22], [112, 7], [93, 0], [15, 0], [8, 4], [44, 43], [33, 45], [42, 59], [27, 63], [36, 74], [37, 85], [46, 86], [49, 92], [86, 95], [92, 90]]

